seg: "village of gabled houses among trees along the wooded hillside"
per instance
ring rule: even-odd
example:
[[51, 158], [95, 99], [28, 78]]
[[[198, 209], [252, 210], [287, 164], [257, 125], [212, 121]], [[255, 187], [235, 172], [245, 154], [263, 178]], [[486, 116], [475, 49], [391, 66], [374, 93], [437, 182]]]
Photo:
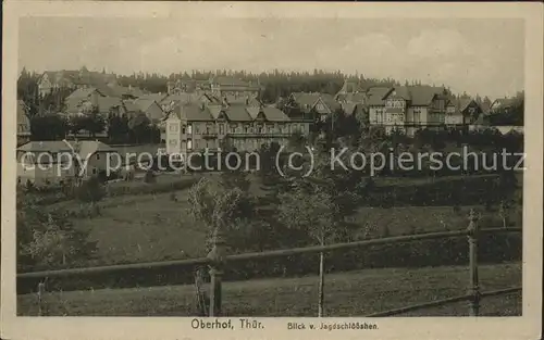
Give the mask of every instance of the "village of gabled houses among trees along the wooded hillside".
[[[171, 154], [213, 151], [225, 143], [238, 151], [255, 151], [264, 143], [285, 144], [299, 133], [311, 136], [330, 121], [409, 138], [421, 130], [523, 131], [522, 95], [492, 101], [455, 95], [444, 86], [372, 84], [354, 76], [341, 84], [336, 76], [322, 86], [329, 92], [283, 89], [271, 98], [258, 77], [244, 80], [226, 72], [218, 74], [207, 79], [184, 74], [172, 80], [153, 75], [147, 84], [164, 92], [151, 92], [123, 84], [146, 84], [141, 81], [146, 78], [133, 76], [129, 81], [86, 67], [33, 75], [23, 71], [17, 86], [17, 150], [58, 153], [85, 141], [97, 152], [111, 152], [112, 146], [148, 144], [136, 150]], [[306, 78], [312, 81], [311, 74]], [[323, 83], [323, 76], [313, 78]], [[334, 91], [334, 85], [341, 88]], [[294, 86], [285, 88], [289, 87]], [[100, 163], [88, 174], [103, 172]], [[21, 168], [17, 177], [20, 182], [63, 180], [52, 173]]]

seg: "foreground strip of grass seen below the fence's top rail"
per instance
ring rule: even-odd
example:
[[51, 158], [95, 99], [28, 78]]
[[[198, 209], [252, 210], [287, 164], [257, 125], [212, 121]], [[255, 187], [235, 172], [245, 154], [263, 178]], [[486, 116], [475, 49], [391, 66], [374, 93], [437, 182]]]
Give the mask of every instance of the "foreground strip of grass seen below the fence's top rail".
[[[480, 266], [482, 291], [518, 286], [521, 264]], [[390, 308], [466, 294], [467, 267], [386, 268], [325, 277], [325, 316], [362, 316]], [[47, 293], [49, 315], [190, 316], [195, 288], [168, 286]], [[225, 316], [317, 316], [318, 278], [225, 282]], [[18, 295], [18, 315], [36, 315], [36, 295]], [[483, 316], [521, 315], [521, 293], [484, 298]], [[468, 303], [425, 308], [400, 316], [463, 316]]]

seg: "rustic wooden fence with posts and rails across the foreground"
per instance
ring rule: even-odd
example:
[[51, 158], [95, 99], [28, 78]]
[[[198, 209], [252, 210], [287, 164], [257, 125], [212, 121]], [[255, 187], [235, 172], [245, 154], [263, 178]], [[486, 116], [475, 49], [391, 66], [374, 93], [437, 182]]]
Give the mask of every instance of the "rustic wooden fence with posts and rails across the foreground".
[[[461, 301], [469, 302], [469, 315], [478, 316], [480, 311], [480, 303], [482, 298], [495, 297], [499, 294], [507, 294], [512, 292], [521, 291], [521, 287], [511, 287], [508, 289], [486, 291], [482, 292], [480, 290], [480, 282], [478, 277], [478, 239], [479, 236], [483, 234], [498, 234], [498, 232], [521, 232], [521, 228], [489, 228], [480, 229], [478, 227], [478, 216], [473, 211], [469, 214], [469, 225], [466, 230], [456, 231], [444, 231], [444, 232], [430, 232], [421, 235], [410, 235], [410, 236], [398, 236], [398, 237], [386, 237], [379, 239], [370, 239], [357, 242], [348, 243], [335, 243], [329, 245], [317, 245], [317, 247], [306, 247], [306, 248], [294, 248], [286, 250], [275, 250], [265, 251], [258, 253], [243, 253], [235, 255], [226, 255], [226, 242], [224, 235], [221, 230], [217, 229], [212, 238], [212, 249], [207, 257], [181, 260], [181, 261], [165, 261], [156, 263], [143, 263], [143, 264], [126, 264], [126, 265], [113, 265], [113, 266], [102, 266], [102, 267], [89, 267], [89, 268], [74, 268], [74, 269], [61, 269], [61, 270], [49, 270], [49, 272], [34, 272], [34, 273], [23, 273], [17, 275], [17, 280], [25, 279], [40, 279], [38, 284], [38, 308], [41, 311], [41, 297], [45, 291], [45, 281], [48, 278], [54, 277], [77, 277], [79, 275], [87, 274], [104, 274], [104, 273], [119, 273], [126, 269], [157, 269], [165, 268], [172, 266], [190, 266], [190, 265], [208, 265], [210, 268], [210, 304], [209, 304], [209, 316], [221, 316], [222, 307], [222, 277], [225, 272], [226, 265], [236, 261], [250, 261], [256, 259], [265, 257], [285, 257], [296, 254], [323, 254], [334, 250], [347, 250], [347, 249], [358, 249], [374, 244], [391, 244], [397, 242], [410, 242], [419, 240], [432, 240], [432, 239], [445, 239], [445, 238], [456, 238], [456, 237], [467, 237], [469, 242], [469, 270], [470, 270], [470, 281], [468, 285], [468, 291], [465, 295], [453, 297], [440, 301], [432, 301], [421, 304], [415, 304], [410, 306], [405, 306], [400, 308], [384, 311], [368, 316], [392, 316], [398, 315], [416, 310], [422, 310], [428, 307], [441, 306], [449, 303], [456, 303]], [[320, 284], [323, 280], [323, 269], [320, 266]], [[321, 286], [321, 285], [320, 285]], [[319, 316], [323, 315], [323, 294], [324, 287], [320, 287], [320, 308]]]

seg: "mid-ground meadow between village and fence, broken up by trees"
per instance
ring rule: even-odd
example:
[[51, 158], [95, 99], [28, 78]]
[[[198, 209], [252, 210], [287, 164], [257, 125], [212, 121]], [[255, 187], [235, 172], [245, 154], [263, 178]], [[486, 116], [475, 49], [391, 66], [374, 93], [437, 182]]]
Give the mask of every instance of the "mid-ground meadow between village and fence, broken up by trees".
[[[172, 178], [174, 178], [172, 175], [162, 175], [158, 177], [158, 182], [168, 182], [173, 180]], [[419, 184], [425, 179], [406, 179], [400, 182], [410, 180]], [[390, 178], [384, 178], [383, 181], [383, 185], [397, 185]], [[257, 196], [262, 193], [255, 178], [250, 190]], [[175, 194], [175, 201], [172, 200], [172, 194]], [[53, 206], [74, 209], [78, 204], [75, 201], [66, 201]], [[99, 253], [92, 264], [136, 263], [206, 255], [203, 244], [207, 232], [203, 226], [193, 221], [188, 214], [186, 189], [154, 194], [118, 196], [104, 199], [100, 205], [99, 216], [75, 221], [77, 226], [91, 230], [91, 239], [98, 241]], [[482, 206], [475, 205], [461, 206], [458, 212], [454, 212], [452, 206], [360, 207], [354, 218], [361, 225], [361, 234], [363, 228], [370, 226], [378, 235], [385, 225], [392, 236], [410, 231], [443, 231], [466, 228], [467, 214], [471, 207], [483, 210]], [[487, 212], [483, 216], [492, 218], [494, 226], [499, 226], [496, 213]]]

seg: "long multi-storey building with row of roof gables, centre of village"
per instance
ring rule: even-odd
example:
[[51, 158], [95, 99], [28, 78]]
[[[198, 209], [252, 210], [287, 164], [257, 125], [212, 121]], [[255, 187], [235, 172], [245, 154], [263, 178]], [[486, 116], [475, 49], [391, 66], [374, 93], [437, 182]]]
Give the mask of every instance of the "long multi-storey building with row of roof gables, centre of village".
[[166, 153], [218, 150], [224, 144], [254, 151], [273, 141], [284, 144], [297, 133], [308, 135], [309, 125], [308, 119], [289, 118], [281, 110], [257, 100], [181, 104], [165, 121]]

